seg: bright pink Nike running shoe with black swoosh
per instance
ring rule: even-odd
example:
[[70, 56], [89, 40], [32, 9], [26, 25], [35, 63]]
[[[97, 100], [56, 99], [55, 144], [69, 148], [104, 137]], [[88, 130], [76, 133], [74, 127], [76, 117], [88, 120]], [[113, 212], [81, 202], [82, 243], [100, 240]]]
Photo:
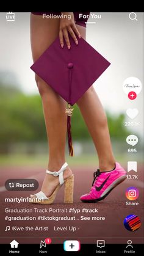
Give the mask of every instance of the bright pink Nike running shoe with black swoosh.
[[126, 179], [126, 171], [119, 163], [115, 163], [115, 169], [108, 172], [100, 172], [99, 169], [93, 174], [94, 180], [89, 194], [81, 196], [85, 203], [96, 203], [103, 200], [118, 184]]

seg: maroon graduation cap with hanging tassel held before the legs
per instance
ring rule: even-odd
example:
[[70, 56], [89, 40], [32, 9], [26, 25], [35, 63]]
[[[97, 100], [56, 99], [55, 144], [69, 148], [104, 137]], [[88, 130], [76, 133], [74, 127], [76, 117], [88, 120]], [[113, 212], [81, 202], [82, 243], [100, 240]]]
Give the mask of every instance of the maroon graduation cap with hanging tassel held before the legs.
[[31, 69], [68, 103], [68, 147], [73, 156], [71, 115], [74, 103], [82, 97], [110, 63], [83, 38], [79, 44], [70, 38], [71, 49], [61, 48], [59, 37], [36, 60]]

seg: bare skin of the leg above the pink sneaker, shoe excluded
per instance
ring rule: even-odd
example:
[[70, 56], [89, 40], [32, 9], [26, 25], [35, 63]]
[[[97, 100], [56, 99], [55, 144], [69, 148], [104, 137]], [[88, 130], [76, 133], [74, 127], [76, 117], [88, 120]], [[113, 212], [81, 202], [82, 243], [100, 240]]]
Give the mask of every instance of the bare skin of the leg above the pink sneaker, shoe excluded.
[[[85, 28], [77, 27], [82, 37], [85, 38]], [[93, 138], [99, 158], [99, 169], [103, 171], [112, 170], [115, 167], [115, 159], [110, 142], [107, 117], [93, 86], [84, 93], [77, 104]]]

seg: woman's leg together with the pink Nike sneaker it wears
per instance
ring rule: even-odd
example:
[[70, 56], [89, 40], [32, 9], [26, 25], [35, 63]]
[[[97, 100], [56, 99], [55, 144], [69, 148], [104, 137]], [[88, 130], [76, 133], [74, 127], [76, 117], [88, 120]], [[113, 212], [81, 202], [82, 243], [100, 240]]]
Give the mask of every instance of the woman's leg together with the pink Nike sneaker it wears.
[[[79, 32], [84, 37], [84, 28], [82, 28], [82, 31], [79, 29]], [[115, 186], [126, 179], [126, 171], [119, 163], [115, 163], [106, 114], [93, 86], [84, 93], [77, 104], [81, 109], [98, 152], [100, 169], [94, 172], [94, 180], [90, 192], [82, 195], [80, 199], [82, 202], [95, 203], [103, 200]], [[85, 108], [85, 106], [87, 107]]]

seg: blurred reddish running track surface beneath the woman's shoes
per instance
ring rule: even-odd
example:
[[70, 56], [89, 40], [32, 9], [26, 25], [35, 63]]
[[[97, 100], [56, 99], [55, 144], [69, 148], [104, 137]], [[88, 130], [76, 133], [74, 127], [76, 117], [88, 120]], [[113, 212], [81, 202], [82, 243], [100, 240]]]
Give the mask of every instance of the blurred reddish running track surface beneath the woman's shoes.
[[[41, 183], [45, 176], [45, 171], [37, 167], [4, 167], [1, 170], [1, 243], [10, 243], [13, 239], [19, 243], [40, 243], [41, 240], [50, 237], [52, 243], [63, 243], [64, 240], [79, 240], [81, 243], [96, 243], [96, 240], [105, 240], [106, 243], [127, 243], [128, 240], [132, 240], [132, 243], [143, 243], [143, 169], [139, 168], [138, 172], [132, 172], [132, 174], [139, 175], [139, 180], [125, 180], [123, 183], [113, 189], [101, 202], [98, 203], [82, 203], [79, 197], [90, 190], [93, 180], [92, 167], [88, 168], [73, 168], [74, 174], [74, 203], [63, 204], [63, 188], [60, 189], [57, 194], [56, 201], [52, 205], [35, 205], [30, 203], [5, 203], [5, 197], [29, 197], [31, 192], [22, 191], [6, 191], [4, 183], [9, 178], [35, 178], [39, 182], [40, 191]], [[129, 172], [130, 174], [130, 172]], [[139, 189], [140, 196], [136, 201], [139, 202], [137, 206], [126, 206], [125, 191], [129, 186], [135, 186]], [[4, 221], [5, 215], [18, 216], [18, 213], [4, 213], [5, 208], [27, 208], [32, 209], [33, 213], [20, 213], [20, 216], [76, 216], [76, 221]], [[79, 209], [80, 213], [34, 213], [34, 208], [41, 209], [65, 209], [67, 211], [70, 208], [74, 210]], [[98, 209], [98, 213], [82, 213], [82, 209]], [[142, 225], [139, 230], [135, 232], [129, 232], [124, 228], [123, 221], [129, 214], [136, 214], [142, 221]], [[90, 220], [81, 221], [81, 216], [88, 217]], [[92, 220], [92, 216], [104, 216], [105, 221]], [[10, 225], [10, 231], [5, 231], [5, 226]], [[24, 227], [24, 231], [13, 231], [12, 227]], [[25, 227], [48, 227], [48, 231], [29, 231], [25, 230]], [[54, 228], [55, 227], [55, 228]], [[57, 227], [76, 227], [76, 231], [56, 231]]]

